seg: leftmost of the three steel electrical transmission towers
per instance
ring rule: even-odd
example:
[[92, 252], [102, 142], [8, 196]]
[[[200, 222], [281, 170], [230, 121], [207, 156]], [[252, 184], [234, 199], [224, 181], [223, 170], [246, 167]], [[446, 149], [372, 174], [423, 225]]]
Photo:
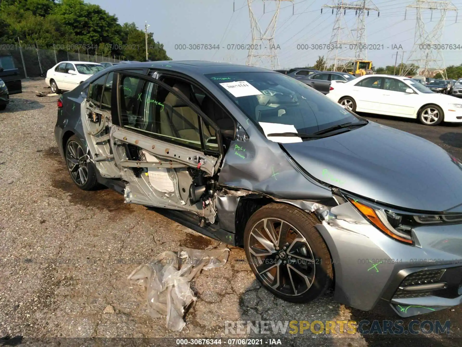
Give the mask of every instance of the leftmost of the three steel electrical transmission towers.
[[[276, 11], [269, 22], [265, 31], [261, 30], [258, 19], [252, 6], [255, 6], [256, 0], [247, 0], [249, 5], [250, 30], [252, 31], [252, 43], [250, 44], [249, 54], [247, 55], [246, 65], [250, 66], [267, 66], [268, 62], [271, 69], [279, 68], [279, 59], [277, 46], [274, 43], [274, 34], [276, 32], [276, 22], [279, 17], [279, 9], [282, 1], [294, 0], [267, 0], [276, 2]], [[260, 2], [260, 1], [259, 1]], [[293, 10], [292, 10], [293, 12]], [[263, 14], [265, 13], [265, 0], [263, 0]], [[261, 16], [262, 17], [262, 16]]]

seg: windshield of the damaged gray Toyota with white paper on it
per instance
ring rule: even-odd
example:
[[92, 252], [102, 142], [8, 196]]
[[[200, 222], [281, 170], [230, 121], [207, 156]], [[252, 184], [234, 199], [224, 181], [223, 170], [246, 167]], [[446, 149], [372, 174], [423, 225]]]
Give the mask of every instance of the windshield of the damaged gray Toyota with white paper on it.
[[261, 123], [286, 124], [280, 129], [292, 127], [298, 133], [311, 135], [334, 125], [364, 122], [322, 93], [283, 74], [240, 72], [206, 76], [260, 130]]

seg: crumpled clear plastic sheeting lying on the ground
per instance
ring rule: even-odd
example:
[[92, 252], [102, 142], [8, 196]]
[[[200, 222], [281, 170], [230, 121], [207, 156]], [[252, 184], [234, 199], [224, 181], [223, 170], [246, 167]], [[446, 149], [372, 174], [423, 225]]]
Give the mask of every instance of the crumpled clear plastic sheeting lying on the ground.
[[186, 324], [184, 309], [196, 300], [189, 282], [201, 270], [225, 265], [228, 254], [224, 243], [206, 250], [180, 247], [177, 253], [161, 253], [148, 264], [139, 266], [128, 280], [146, 287], [152, 317], [167, 316], [167, 328], [181, 331]]

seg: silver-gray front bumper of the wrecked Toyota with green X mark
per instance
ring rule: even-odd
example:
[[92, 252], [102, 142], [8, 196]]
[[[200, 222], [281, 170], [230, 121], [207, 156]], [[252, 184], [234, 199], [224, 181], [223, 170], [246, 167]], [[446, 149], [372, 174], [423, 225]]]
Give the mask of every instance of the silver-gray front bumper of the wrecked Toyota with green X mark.
[[318, 216], [334, 266], [335, 300], [365, 311], [385, 304], [401, 317], [461, 304], [461, 224], [414, 228], [410, 246], [376, 229], [350, 203]]

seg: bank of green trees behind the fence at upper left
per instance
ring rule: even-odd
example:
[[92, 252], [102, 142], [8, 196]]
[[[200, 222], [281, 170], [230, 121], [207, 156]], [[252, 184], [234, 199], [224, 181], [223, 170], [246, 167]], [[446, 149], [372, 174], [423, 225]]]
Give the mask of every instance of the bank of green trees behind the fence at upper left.
[[[134, 23], [118, 23], [98, 5], [83, 0], [0, 0], [0, 42], [103, 56], [146, 60], [144, 31]], [[85, 45], [85, 47], [82, 47]], [[164, 45], [148, 34], [150, 60], [170, 60]]]

